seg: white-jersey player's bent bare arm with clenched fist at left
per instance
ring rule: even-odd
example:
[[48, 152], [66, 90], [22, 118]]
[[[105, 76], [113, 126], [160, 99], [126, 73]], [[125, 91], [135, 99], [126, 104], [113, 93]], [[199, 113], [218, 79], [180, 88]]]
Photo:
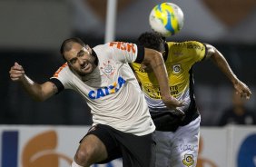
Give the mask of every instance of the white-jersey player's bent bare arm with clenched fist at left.
[[34, 81], [25, 75], [25, 70], [20, 64], [15, 63], [11, 67], [9, 74], [11, 80], [20, 83], [25, 91], [36, 101], [44, 101], [57, 92], [57, 87], [54, 83], [34, 83]]

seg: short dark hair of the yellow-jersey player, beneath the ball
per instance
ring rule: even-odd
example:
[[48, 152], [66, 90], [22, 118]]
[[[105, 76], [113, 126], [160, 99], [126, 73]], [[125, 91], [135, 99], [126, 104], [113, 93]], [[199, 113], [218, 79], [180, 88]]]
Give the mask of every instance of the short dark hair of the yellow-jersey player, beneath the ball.
[[159, 52], [164, 51], [165, 40], [161, 34], [155, 32], [146, 32], [139, 36], [138, 43], [146, 48], [154, 49]]

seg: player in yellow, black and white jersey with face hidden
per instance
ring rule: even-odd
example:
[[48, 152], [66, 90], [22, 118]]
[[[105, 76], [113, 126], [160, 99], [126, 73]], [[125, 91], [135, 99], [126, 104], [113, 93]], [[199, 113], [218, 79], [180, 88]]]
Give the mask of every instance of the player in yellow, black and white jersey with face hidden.
[[184, 105], [183, 117], [172, 114], [159, 92], [159, 84], [148, 65], [133, 63], [132, 67], [141, 82], [153, 122], [156, 126], [156, 166], [195, 167], [198, 155], [201, 116], [197, 110], [194, 93], [192, 66], [211, 58], [233, 83], [236, 92], [250, 98], [251, 91], [232, 73], [223, 55], [212, 45], [196, 41], [183, 43], [165, 42], [155, 33], [144, 33], [139, 43], [162, 52], [171, 94]]

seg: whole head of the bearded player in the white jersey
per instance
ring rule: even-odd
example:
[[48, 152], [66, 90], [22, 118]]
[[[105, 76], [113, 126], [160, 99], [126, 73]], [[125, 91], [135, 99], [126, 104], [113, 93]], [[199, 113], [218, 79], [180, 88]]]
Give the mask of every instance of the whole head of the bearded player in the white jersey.
[[79, 38], [64, 40], [60, 49], [64, 60], [80, 75], [90, 74], [95, 68], [93, 50]]

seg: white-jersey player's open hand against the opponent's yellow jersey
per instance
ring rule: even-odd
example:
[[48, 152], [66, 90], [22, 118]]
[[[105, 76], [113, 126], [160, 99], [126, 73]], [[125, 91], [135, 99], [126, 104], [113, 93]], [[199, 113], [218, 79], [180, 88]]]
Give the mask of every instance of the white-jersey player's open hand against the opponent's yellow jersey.
[[184, 106], [184, 102], [183, 101], [179, 101], [177, 100], [176, 98], [172, 97], [172, 98], [169, 98], [169, 99], [162, 99], [162, 102], [170, 109], [172, 109], [172, 113], [175, 114], [175, 115], [178, 115], [178, 116], [184, 116], [185, 113], [182, 112], [181, 109], [179, 109], [178, 107], [182, 107]]

